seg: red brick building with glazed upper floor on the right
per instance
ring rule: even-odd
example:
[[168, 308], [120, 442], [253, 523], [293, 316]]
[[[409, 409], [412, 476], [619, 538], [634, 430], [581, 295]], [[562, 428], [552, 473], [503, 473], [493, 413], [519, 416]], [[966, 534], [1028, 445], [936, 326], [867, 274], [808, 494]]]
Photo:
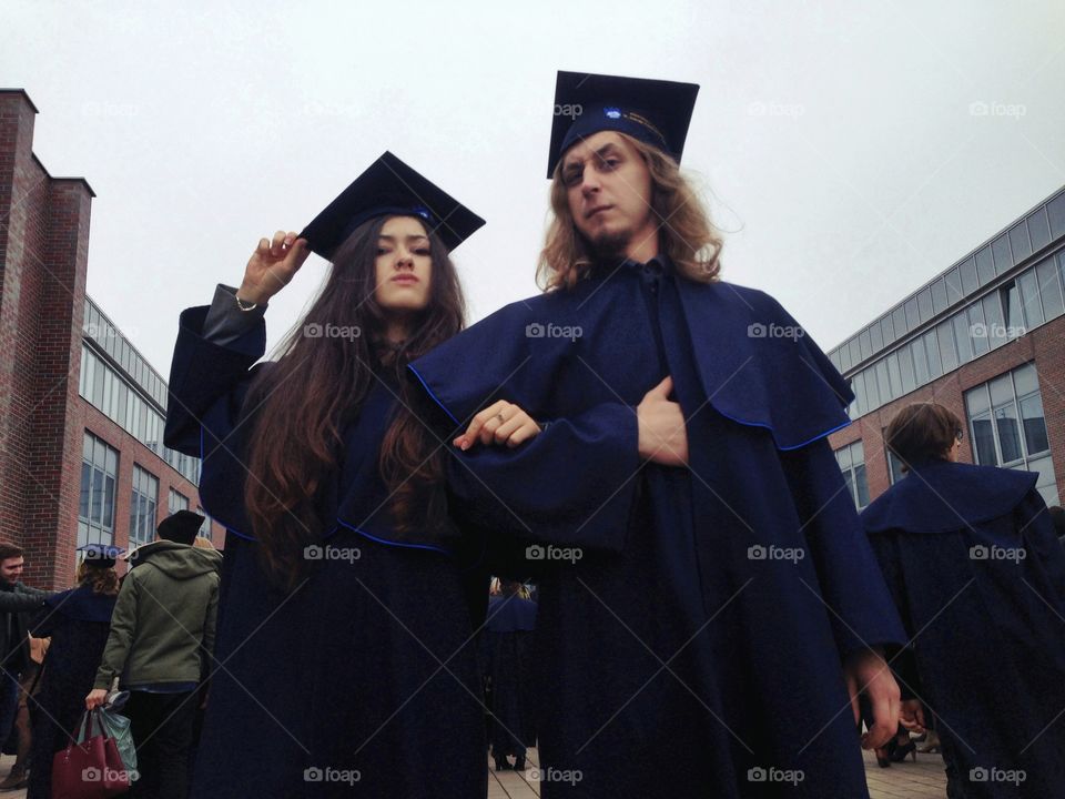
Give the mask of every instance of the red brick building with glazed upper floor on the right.
[[854, 424], [830, 442], [859, 507], [901, 476], [884, 429], [913, 402], [965, 422], [962, 459], [1039, 473], [1065, 497], [1065, 189], [862, 327], [829, 357]]

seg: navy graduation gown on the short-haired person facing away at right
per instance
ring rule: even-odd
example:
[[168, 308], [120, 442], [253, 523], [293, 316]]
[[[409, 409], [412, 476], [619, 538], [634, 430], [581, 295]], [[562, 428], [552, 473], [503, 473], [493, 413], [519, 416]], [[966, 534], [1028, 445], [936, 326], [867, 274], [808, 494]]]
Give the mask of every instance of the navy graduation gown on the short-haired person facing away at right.
[[1036, 479], [930, 461], [862, 513], [913, 638], [892, 665], [966, 799], [1065, 792], [1065, 554]]

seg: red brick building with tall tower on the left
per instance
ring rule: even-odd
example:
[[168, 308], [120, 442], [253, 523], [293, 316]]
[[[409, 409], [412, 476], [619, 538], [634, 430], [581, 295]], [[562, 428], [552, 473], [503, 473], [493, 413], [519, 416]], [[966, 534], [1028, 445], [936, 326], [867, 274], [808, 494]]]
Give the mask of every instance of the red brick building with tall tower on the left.
[[199, 462], [163, 447], [165, 382], [85, 296], [94, 194], [33, 154], [37, 112], [0, 90], [0, 538], [26, 583], [62, 588], [79, 545], [199, 509]]

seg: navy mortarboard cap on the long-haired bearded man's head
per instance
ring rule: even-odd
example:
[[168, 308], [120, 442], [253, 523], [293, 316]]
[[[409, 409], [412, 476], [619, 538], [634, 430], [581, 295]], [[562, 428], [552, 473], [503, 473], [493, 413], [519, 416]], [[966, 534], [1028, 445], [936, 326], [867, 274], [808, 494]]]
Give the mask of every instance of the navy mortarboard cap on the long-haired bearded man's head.
[[592, 133], [627, 133], [680, 163], [699, 85], [677, 81], [559, 71], [547, 176], [562, 154]]

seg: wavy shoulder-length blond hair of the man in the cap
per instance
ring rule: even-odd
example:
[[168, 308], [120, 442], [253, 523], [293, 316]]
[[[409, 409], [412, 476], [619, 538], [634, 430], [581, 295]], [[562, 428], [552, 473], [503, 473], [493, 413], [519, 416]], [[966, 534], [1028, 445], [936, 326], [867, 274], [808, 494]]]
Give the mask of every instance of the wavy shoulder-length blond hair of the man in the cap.
[[[713, 226], [694, 189], [680, 173], [677, 162], [658, 148], [618, 133], [631, 144], [651, 173], [651, 213], [659, 227], [661, 251], [680, 274], [699, 283], [719, 280], [724, 239]], [[595, 265], [588, 240], [577, 230], [569, 210], [560, 159], [551, 178], [552, 219], [540, 252], [536, 280], [541, 289], [571, 289], [587, 277]]]

